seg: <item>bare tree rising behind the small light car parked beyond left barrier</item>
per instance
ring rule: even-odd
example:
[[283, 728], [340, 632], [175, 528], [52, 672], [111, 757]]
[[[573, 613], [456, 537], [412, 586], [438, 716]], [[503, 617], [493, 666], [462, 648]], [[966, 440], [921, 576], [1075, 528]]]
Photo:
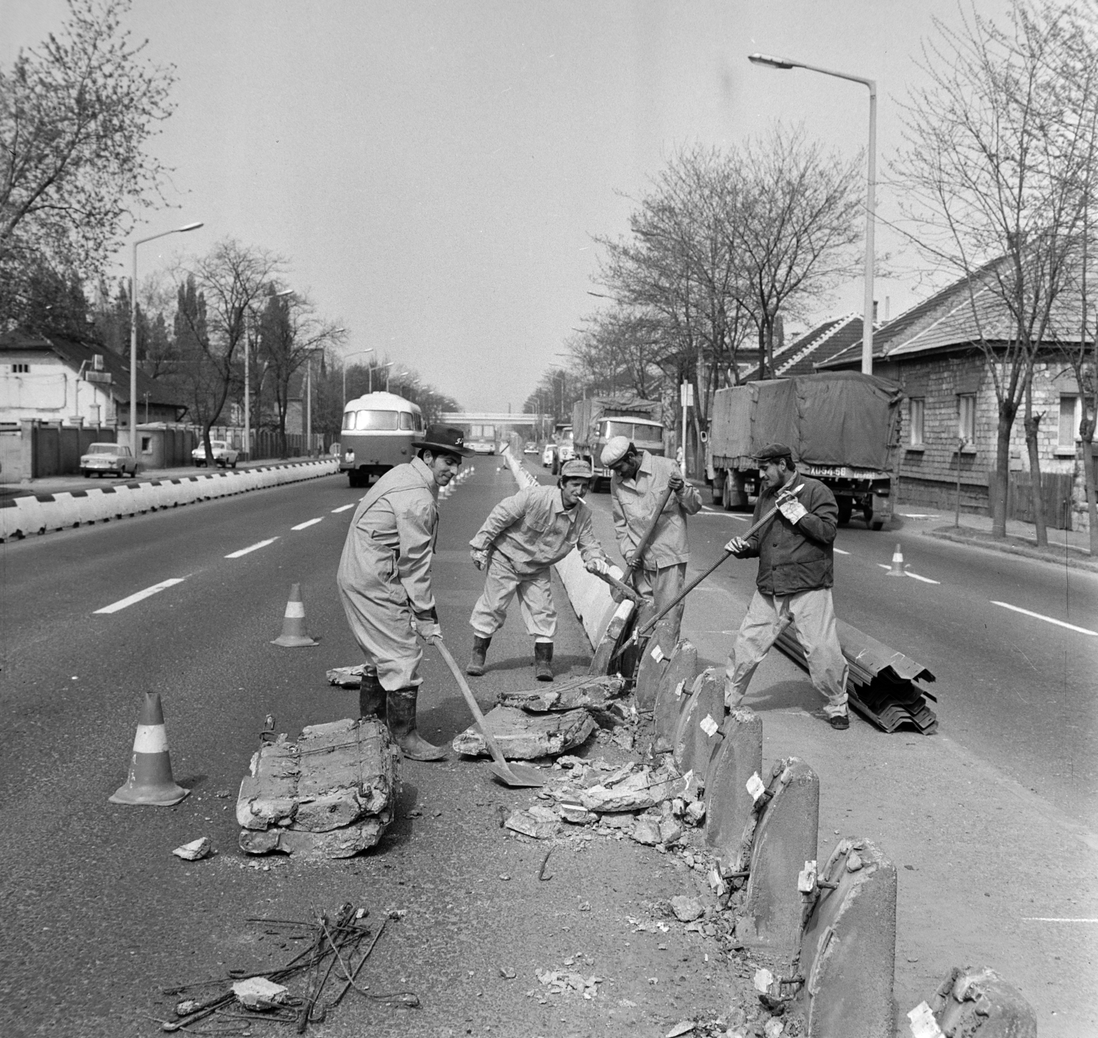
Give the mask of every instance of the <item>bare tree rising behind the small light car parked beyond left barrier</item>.
[[221, 417], [236, 379], [236, 348], [245, 341], [248, 314], [283, 268], [266, 249], [219, 241], [205, 256], [183, 261], [177, 282], [188, 302], [177, 309], [176, 338], [183, 363], [180, 379], [202, 425], [206, 463], [213, 461], [210, 429]]

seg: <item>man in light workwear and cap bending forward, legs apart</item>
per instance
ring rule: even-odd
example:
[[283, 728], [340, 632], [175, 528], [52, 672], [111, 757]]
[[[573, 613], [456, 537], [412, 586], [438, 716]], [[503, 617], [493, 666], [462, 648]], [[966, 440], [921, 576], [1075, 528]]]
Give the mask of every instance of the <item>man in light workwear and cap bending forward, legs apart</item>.
[[469, 618], [473, 651], [466, 674], [484, 673], [492, 635], [503, 627], [517, 595], [526, 631], [534, 639], [534, 676], [539, 681], [552, 680], [557, 610], [549, 567], [578, 548], [590, 572], [609, 571], [592, 529], [591, 509], [583, 503], [591, 475], [586, 462], [564, 462], [557, 486], [528, 486], [504, 498], [469, 542], [473, 565], [488, 572]]

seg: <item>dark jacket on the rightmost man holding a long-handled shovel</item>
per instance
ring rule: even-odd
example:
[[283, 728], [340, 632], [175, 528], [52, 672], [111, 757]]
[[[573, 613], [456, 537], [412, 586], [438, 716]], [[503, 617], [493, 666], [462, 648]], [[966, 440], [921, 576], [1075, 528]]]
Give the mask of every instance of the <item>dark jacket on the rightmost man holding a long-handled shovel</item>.
[[[763, 595], [796, 595], [834, 584], [834, 554], [831, 550], [839, 523], [839, 506], [834, 495], [818, 479], [797, 475], [791, 487], [800, 486], [796, 495], [808, 515], [796, 524], [781, 512], [747, 539], [748, 550], [741, 559], [759, 556], [755, 585]], [[764, 489], [755, 503], [754, 522], [774, 507], [778, 490]]]

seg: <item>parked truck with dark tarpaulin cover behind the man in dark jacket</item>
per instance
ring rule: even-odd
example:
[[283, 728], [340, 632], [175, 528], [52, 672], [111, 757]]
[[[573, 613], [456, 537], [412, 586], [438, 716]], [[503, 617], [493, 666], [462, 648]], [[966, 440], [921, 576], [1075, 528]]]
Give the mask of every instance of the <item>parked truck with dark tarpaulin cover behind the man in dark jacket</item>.
[[847, 371], [718, 390], [707, 444], [715, 496], [719, 490], [726, 508], [747, 505], [759, 492], [754, 454], [785, 443], [799, 471], [834, 494], [840, 522], [856, 509], [879, 530], [892, 517], [903, 398], [893, 382]]

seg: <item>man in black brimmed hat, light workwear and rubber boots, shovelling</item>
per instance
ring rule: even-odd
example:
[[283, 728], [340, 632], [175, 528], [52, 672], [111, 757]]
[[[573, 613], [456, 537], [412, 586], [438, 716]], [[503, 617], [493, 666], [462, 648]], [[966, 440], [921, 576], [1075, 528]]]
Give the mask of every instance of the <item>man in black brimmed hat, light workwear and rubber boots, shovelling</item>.
[[389, 724], [404, 756], [441, 760], [446, 751], [416, 731], [424, 641], [440, 639], [430, 586], [438, 490], [472, 451], [450, 426], [428, 426], [418, 456], [390, 469], [359, 503], [336, 583], [347, 622], [366, 654], [359, 713]]

